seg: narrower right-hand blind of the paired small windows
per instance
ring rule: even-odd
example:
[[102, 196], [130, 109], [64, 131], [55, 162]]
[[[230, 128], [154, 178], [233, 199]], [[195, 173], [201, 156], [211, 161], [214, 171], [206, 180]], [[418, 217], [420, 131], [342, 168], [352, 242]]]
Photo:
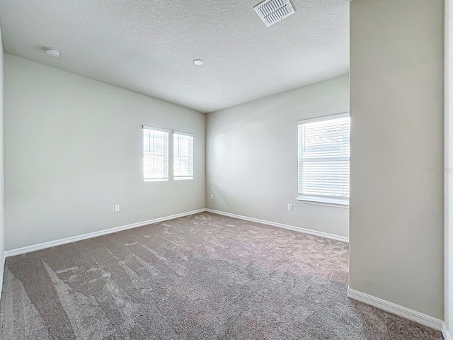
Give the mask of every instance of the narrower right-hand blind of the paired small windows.
[[178, 179], [193, 179], [193, 135], [173, 132], [173, 176]]

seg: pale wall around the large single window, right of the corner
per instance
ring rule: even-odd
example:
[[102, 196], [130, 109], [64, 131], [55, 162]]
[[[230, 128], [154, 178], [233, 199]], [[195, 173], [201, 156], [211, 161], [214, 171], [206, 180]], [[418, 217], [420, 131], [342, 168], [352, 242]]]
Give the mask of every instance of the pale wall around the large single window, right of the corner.
[[348, 111], [345, 75], [208, 114], [207, 208], [348, 237], [348, 209], [296, 201], [297, 120]]

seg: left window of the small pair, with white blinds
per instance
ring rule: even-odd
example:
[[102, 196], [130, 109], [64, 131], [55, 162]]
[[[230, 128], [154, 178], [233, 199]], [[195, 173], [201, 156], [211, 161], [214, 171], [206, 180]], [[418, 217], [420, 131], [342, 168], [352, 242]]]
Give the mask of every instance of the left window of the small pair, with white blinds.
[[143, 179], [168, 181], [168, 130], [143, 125]]

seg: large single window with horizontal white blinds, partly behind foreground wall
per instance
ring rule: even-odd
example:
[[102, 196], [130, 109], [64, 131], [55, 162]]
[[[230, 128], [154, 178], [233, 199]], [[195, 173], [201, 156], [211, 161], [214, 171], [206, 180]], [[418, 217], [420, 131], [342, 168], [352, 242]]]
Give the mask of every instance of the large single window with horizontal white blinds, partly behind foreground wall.
[[349, 114], [298, 123], [298, 200], [349, 205]]

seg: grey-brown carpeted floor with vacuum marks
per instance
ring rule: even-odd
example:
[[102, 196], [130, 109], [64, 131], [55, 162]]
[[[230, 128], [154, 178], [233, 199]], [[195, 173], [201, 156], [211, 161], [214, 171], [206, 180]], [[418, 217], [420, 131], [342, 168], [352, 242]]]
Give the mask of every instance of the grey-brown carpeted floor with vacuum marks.
[[0, 338], [442, 339], [347, 288], [348, 244], [205, 212], [6, 259]]

